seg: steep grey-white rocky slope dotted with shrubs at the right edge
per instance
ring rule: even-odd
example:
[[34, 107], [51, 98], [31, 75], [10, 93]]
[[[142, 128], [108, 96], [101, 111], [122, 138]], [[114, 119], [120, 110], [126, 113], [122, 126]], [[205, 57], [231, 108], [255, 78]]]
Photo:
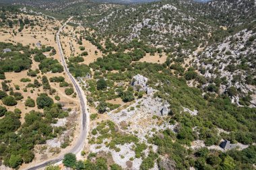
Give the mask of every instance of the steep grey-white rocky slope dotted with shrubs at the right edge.
[[[248, 81], [255, 79], [255, 52], [256, 32], [253, 30], [241, 30], [232, 36], [226, 37], [222, 42], [207, 46], [194, 60], [194, 65], [205, 69], [199, 75], [210, 79], [226, 79], [226, 83], [220, 85], [220, 93], [225, 93], [228, 88], [239, 89], [238, 96], [232, 97], [232, 102], [238, 106], [238, 98], [256, 91], [255, 85]], [[248, 69], [241, 69], [247, 67]], [[210, 83], [207, 82], [202, 88]], [[216, 84], [216, 83], [215, 83]], [[254, 97], [252, 96], [252, 99]], [[253, 107], [253, 105], [251, 105]], [[255, 107], [255, 105], [254, 105]]]

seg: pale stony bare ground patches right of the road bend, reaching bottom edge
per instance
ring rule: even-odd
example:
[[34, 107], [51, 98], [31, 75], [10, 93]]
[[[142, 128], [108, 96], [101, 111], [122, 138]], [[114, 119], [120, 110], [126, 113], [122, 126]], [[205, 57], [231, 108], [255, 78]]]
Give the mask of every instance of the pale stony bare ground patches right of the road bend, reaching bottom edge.
[[[118, 98], [115, 100], [107, 101], [109, 103], [123, 103], [123, 101]], [[136, 99], [136, 101], [125, 103], [117, 110], [108, 112], [107, 114], [98, 114], [96, 120], [90, 122], [90, 132], [92, 129], [96, 128], [100, 122], [104, 120], [111, 120], [117, 125], [117, 129], [121, 132], [127, 134], [135, 134], [139, 138], [139, 141], [146, 142], [146, 135], [152, 136], [154, 132], [166, 128], [174, 128], [174, 126], [169, 126], [163, 123], [164, 117], [159, 116], [162, 103], [160, 101], [155, 101], [151, 96], [144, 96], [141, 99]], [[96, 134], [97, 136], [98, 134]], [[94, 135], [90, 134], [89, 138]], [[94, 136], [94, 137], [96, 137]], [[104, 139], [101, 144], [89, 144], [90, 147], [87, 148], [86, 153], [111, 153], [112, 159], [115, 163], [123, 167], [124, 169], [128, 167], [131, 163], [131, 169], [139, 169], [142, 159], [135, 158], [134, 144], [118, 144], [117, 147], [120, 151], [115, 151], [106, 146], [106, 143], [110, 142], [110, 139]], [[148, 144], [152, 146], [153, 150], [156, 151], [157, 146]], [[149, 153], [149, 148], [143, 151], [147, 156]], [[133, 158], [132, 161], [130, 159]], [[156, 169], [155, 166], [153, 169]]]

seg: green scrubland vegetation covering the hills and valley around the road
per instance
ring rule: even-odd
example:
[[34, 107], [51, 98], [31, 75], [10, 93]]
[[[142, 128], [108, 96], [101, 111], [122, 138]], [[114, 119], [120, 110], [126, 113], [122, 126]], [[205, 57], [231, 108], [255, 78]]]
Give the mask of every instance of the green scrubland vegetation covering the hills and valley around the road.
[[[170, 0], [139, 5], [88, 3], [87, 7], [74, 3], [71, 9], [77, 10], [72, 13], [65, 7], [55, 10], [56, 15], [61, 12], [65, 16], [73, 15], [68, 24], [73, 30], [61, 36], [75, 39], [73, 45], [77, 54], [71, 52], [72, 55], [65, 59], [93, 108], [90, 109], [93, 125], [88, 136], [90, 145], [104, 144], [109, 151], [120, 153], [121, 146], [132, 144], [135, 156], [129, 161], [141, 159], [139, 169], [143, 170], [154, 166], [166, 169], [166, 164], [173, 169], [254, 168], [254, 1], [193, 3]], [[9, 18], [5, 11], [0, 13], [0, 27], [19, 26], [18, 32], [23, 32], [26, 26], [33, 26], [30, 19]], [[84, 15], [78, 15], [77, 12], [82, 11]], [[88, 29], [75, 30], [80, 25], [76, 22]], [[88, 50], [84, 42], [96, 50]], [[3, 52], [6, 48], [11, 51]], [[95, 60], [84, 64], [92, 53]], [[55, 54], [52, 46], [30, 48], [19, 43], [0, 42], [0, 99], [3, 103], [0, 105], [0, 160], [9, 167], [30, 163], [36, 144], [44, 144], [63, 133], [63, 128], [51, 126], [58, 118], [68, 116], [61, 104], [55, 102], [62, 97], [55, 94], [53, 83], [62, 88], [67, 97], [74, 98], [76, 93], [65, 80], [63, 66], [53, 57]], [[152, 63], [147, 60], [148, 56], [165, 56], [166, 60]], [[142, 58], [146, 58], [146, 62], [140, 62]], [[33, 62], [38, 69], [32, 69]], [[19, 77], [19, 80], [26, 83], [26, 88], [12, 87], [6, 74], [22, 71], [26, 71], [28, 77]], [[48, 73], [63, 75], [48, 77]], [[108, 117], [109, 112], [121, 112], [148, 96], [147, 91], [139, 91], [131, 85], [138, 74], [148, 78], [148, 87], [155, 90], [154, 98], [159, 97], [170, 105], [167, 116], [160, 119], [154, 115], [152, 122], [159, 120], [159, 126], [163, 122], [174, 126], [173, 129], [152, 129], [153, 134], [143, 136], [143, 141], [139, 132], [128, 132], [127, 127]], [[25, 92], [34, 93], [40, 87], [44, 91], [36, 98], [24, 97]], [[26, 108], [34, 110], [9, 109], [22, 101]], [[139, 107], [142, 105], [129, 108], [129, 112], [136, 112]], [[196, 110], [197, 114], [185, 112], [185, 108]], [[21, 114], [26, 114], [24, 122], [21, 122]], [[125, 126], [130, 126], [126, 123]], [[216, 149], [223, 139], [246, 147], [228, 151]], [[194, 147], [195, 141], [202, 141], [203, 146]], [[86, 156], [86, 161], [79, 161], [69, 153], [63, 163], [73, 169], [123, 169], [121, 163], [113, 161], [110, 153], [93, 153], [89, 148], [89, 152], [84, 151], [82, 155]]]

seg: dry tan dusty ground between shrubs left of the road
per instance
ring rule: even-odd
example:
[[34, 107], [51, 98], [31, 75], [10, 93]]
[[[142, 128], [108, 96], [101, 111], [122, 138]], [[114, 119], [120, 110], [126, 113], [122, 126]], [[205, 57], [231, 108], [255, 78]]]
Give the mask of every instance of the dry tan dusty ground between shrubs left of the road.
[[[24, 27], [24, 30], [22, 30], [22, 32], [18, 32], [18, 29], [20, 28], [20, 26], [14, 26], [13, 28], [0, 28], [0, 42], [11, 42], [13, 44], [17, 44], [17, 43], [22, 43], [24, 46], [28, 45], [30, 46], [30, 48], [40, 48], [40, 46], [36, 46], [36, 43], [40, 42], [42, 45], [45, 46], [53, 46], [55, 48], [55, 50], [57, 50], [57, 44], [55, 42], [55, 33], [57, 32], [57, 30], [54, 30], [53, 28], [61, 26], [61, 22], [58, 20], [53, 20], [53, 19], [45, 19], [43, 16], [34, 16], [34, 15], [24, 15], [24, 14], [19, 14], [18, 17], [28, 17], [29, 19], [37, 19], [38, 23], [40, 26], [28, 26], [28, 28]], [[17, 32], [17, 34], [13, 34], [13, 30], [15, 32]], [[44, 52], [44, 54], [47, 57], [49, 56], [49, 52]], [[55, 54], [53, 56], [53, 58], [60, 60], [60, 56], [59, 56], [59, 52], [57, 50], [57, 54]], [[39, 62], [35, 62], [33, 60], [32, 63], [32, 70], [35, 69], [39, 69], [38, 68], [38, 64]], [[22, 71], [20, 73], [5, 73], [5, 77], [6, 80], [11, 80], [11, 83], [8, 83], [9, 87], [13, 87], [13, 89], [15, 89], [14, 85], [19, 85], [20, 86], [20, 90], [14, 90], [15, 92], [20, 92], [22, 93], [22, 95], [24, 96], [24, 99], [18, 101], [18, 104], [15, 106], [6, 106], [6, 108], [8, 108], [8, 110], [13, 111], [15, 108], [19, 108], [22, 111], [21, 114], [21, 118], [20, 121], [22, 123], [24, 123], [24, 116], [26, 115], [26, 113], [30, 112], [31, 110], [36, 110], [39, 112], [43, 112], [43, 110], [38, 109], [37, 107], [34, 108], [29, 108], [25, 106], [25, 101], [28, 97], [31, 97], [32, 99], [34, 99], [36, 101], [36, 97], [38, 97], [38, 95], [40, 93], [48, 93], [48, 95], [50, 97], [52, 97], [54, 99], [55, 102], [60, 102], [63, 104], [63, 108], [67, 109], [67, 108], [72, 108], [73, 110], [75, 110], [75, 114], [70, 114], [69, 117], [67, 117], [66, 119], [66, 123], [65, 125], [68, 127], [67, 131], [63, 134], [65, 135], [69, 135], [69, 136], [73, 136], [73, 140], [71, 141], [71, 145], [73, 144], [73, 142], [75, 142], [75, 138], [78, 136], [79, 134], [79, 122], [77, 120], [77, 118], [79, 116], [77, 116], [79, 114], [79, 99], [78, 97], [72, 97], [71, 95], [65, 95], [65, 87], [59, 87], [59, 83], [50, 83], [51, 87], [56, 89], [56, 92], [53, 95], [49, 94], [49, 90], [44, 90], [42, 89], [42, 86], [39, 88], [27, 88], [28, 91], [24, 92], [24, 88], [26, 87], [26, 85], [28, 85], [28, 83], [33, 83], [34, 79], [36, 79], [36, 77], [29, 77], [27, 75], [28, 71]], [[68, 83], [71, 83], [71, 81], [69, 81], [67, 75], [65, 75], [65, 73], [46, 73], [44, 74], [46, 75], [46, 77], [48, 79], [50, 79], [51, 77], [59, 77], [59, 76], [63, 76], [65, 77], [65, 81], [67, 81]], [[38, 76], [42, 77], [42, 74], [39, 73]], [[23, 83], [20, 81], [20, 79], [22, 78], [30, 78], [31, 81], [30, 82], [26, 82]], [[0, 80], [0, 83], [3, 80]], [[38, 81], [40, 83], [42, 83], [42, 79], [39, 78]], [[32, 90], [32, 92], [30, 91]], [[59, 95], [59, 97], [61, 97], [60, 101], [55, 100], [55, 95]], [[3, 105], [3, 103], [0, 101], [0, 105]], [[74, 123], [77, 122], [77, 123]], [[46, 160], [46, 159], [51, 159], [51, 157], [56, 157], [56, 154], [60, 153], [60, 151], [68, 151], [69, 150], [69, 146], [65, 149], [61, 149], [61, 148], [53, 148], [47, 144], [43, 144], [43, 145], [37, 145], [34, 148], [34, 153], [35, 153], [35, 159], [32, 163], [30, 164], [24, 164], [22, 165], [22, 168], [25, 167], [31, 167], [32, 165], [34, 165], [35, 163], [39, 163], [42, 160]]]

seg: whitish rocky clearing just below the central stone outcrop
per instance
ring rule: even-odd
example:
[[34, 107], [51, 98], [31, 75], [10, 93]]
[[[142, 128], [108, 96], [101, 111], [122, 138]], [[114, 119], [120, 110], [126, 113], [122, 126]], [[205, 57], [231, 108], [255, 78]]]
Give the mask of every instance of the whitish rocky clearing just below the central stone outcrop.
[[159, 97], [154, 98], [151, 95], [137, 99], [135, 103], [129, 105], [129, 107], [119, 112], [108, 112], [110, 119], [119, 124], [121, 128], [125, 128], [126, 132], [135, 135], [141, 140], [146, 140], [146, 134], [152, 136], [154, 132], [152, 129], [165, 130], [167, 128], [173, 130], [176, 125], [171, 125], [168, 122], [162, 122], [158, 124], [158, 119], [153, 118], [159, 116], [162, 119], [163, 116], [168, 115], [170, 112], [170, 104], [164, 99]]

